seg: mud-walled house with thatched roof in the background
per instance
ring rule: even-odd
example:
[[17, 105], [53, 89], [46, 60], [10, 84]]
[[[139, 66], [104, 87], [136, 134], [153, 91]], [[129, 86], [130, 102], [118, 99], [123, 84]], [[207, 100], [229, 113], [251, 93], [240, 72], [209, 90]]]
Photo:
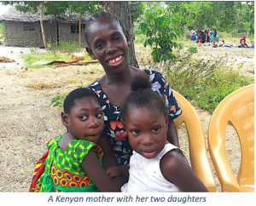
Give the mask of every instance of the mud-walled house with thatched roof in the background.
[[[83, 15], [81, 39], [84, 42], [84, 28], [89, 15]], [[40, 26], [40, 13], [28, 14], [10, 7], [0, 16], [6, 32], [6, 46], [38, 47], [44, 45]], [[59, 41], [79, 42], [79, 14], [66, 13], [58, 17], [43, 15], [45, 39], [48, 43]]]

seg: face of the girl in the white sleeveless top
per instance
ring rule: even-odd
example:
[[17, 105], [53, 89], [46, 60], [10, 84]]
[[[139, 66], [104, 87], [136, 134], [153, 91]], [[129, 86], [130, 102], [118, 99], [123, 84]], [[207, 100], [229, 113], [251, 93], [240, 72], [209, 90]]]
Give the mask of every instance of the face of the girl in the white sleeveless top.
[[143, 157], [156, 157], [166, 145], [168, 116], [160, 110], [132, 108], [123, 123], [131, 147]]

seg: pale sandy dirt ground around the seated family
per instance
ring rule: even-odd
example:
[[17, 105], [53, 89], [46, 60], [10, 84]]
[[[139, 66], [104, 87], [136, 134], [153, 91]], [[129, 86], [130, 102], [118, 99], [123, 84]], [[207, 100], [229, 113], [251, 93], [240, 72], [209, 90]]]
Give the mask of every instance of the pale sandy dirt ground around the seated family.
[[[224, 56], [227, 66], [254, 76], [254, 49], [201, 47], [198, 50], [204, 58]], [[78, 88], [81, 83], [85, 86], [103, 74], [100, 65], [27, 69], [22, 54], [31, 54], [31, 51], [0, 44], [0, 56], [16, 61], [0, 63], [0, 192], [27, 192], [35, 163], [46, 151], [46, 141], [65, 132], [61, 124], [61, 109], [50, 106], [51, 98]], [[211, 115], [198, 109], [196, 112], [207, 140]], [[181, 148], [189, 157], [186, 134], [181, 129], [178, 129], [178, 134]], [[237, 174], [241, 158], [239, 140], [230, 125], [226, 134], [227, 155]], [[221, 192], [213, 167], [212, 171], [217, 191]]]

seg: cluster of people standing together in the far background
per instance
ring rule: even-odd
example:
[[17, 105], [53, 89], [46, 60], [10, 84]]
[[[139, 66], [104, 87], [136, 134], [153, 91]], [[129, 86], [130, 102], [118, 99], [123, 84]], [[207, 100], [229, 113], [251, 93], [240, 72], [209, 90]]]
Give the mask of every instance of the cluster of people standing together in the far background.
[[215, 42], [218, 42], [218, 36], [217, 36], [217, 30], [214, 29], [214, 31], [210, 29], [192, 29], [189, 32], [189, 37], [190, 37], [190, 43], [210, 43], [212, 42], [213, 45]]

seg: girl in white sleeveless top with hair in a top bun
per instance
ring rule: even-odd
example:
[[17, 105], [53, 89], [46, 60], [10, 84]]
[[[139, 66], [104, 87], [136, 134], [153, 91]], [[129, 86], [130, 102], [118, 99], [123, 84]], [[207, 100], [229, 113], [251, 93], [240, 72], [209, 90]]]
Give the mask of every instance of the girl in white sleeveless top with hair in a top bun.
[[[135, 78], [134, 92], [122, 107], [122, 123], [133, 148], [122, 192], [207, 192], [183, 152], [167, 141], [168, 109], [150, 88], [148, 79]], [[108, 169], [108, 174], [127, 175], [121, 167]]]

